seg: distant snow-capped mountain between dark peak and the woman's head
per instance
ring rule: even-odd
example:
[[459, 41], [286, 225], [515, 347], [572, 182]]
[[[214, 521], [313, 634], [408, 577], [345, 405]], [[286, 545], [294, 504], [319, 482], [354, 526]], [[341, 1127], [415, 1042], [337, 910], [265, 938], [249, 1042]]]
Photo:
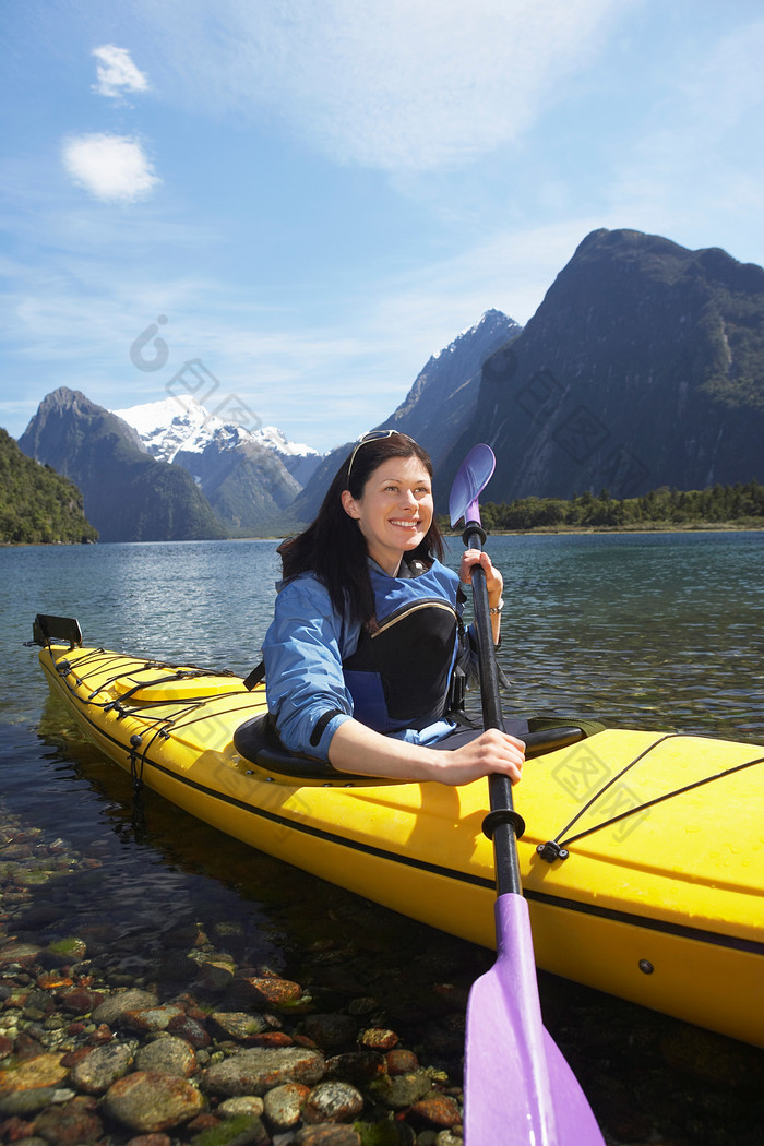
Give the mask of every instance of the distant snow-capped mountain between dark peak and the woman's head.
[[208, 414], [192, 398], [113, 411], [158, 461], [187, 470], [234, 533], [278, 532], [285, 508], [320, 461], [309, 446], [286, 441], [275, 426], [249, 430]]

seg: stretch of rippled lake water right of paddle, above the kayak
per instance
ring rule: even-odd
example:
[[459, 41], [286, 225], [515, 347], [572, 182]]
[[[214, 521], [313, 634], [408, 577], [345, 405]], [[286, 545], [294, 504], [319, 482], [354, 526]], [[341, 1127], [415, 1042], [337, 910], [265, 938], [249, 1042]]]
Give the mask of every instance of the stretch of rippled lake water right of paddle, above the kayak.
[[764, 740], [764, 535], [489, 539], [510, 704]]

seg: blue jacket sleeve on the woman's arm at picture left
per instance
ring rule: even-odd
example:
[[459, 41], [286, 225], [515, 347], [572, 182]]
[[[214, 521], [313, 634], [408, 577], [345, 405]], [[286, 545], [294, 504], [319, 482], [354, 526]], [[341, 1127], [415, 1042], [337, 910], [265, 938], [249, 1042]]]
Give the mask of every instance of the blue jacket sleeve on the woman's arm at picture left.
[[344, 644], [342, 620], [315, 578], [298, 578], [278, 592], [262, 658], [268, 709], [290, 752], [328, 760], [332, 736], [352, 717]]

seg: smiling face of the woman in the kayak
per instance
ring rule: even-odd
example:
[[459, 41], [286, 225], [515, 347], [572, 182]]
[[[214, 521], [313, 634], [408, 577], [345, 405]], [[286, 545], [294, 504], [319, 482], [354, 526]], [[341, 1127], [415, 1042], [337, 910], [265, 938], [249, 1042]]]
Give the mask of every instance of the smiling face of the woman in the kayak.
[[342, 493], [345, 512], [355, 518], [369, 556], [395, 576], [404, 552], [424, 540], [433, 519], [432, 482], [418, 457], [391, 457], [372, 470], [361, 497]]

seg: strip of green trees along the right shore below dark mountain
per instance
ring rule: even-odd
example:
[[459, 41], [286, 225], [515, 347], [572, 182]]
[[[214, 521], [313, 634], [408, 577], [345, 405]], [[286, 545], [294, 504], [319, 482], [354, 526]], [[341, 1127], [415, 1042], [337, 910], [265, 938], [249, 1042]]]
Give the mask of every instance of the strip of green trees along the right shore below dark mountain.
[[[758, 481], [709, 489], [677, 490], [663, 486], [644, 497], [584, 493], [561, 497], [521, 497], [480, 507], [483, 525], [494, 533], [527, 529], [692, 529], [718, 526], [764, 527], [764, 486]], [[441, 525], [448, 526], [448, 519]]]

